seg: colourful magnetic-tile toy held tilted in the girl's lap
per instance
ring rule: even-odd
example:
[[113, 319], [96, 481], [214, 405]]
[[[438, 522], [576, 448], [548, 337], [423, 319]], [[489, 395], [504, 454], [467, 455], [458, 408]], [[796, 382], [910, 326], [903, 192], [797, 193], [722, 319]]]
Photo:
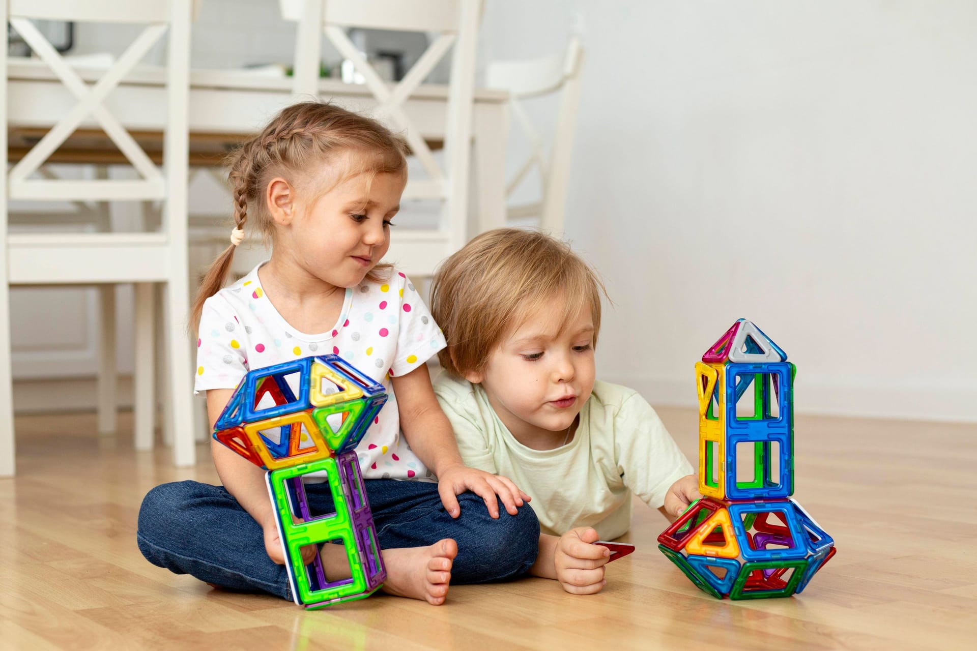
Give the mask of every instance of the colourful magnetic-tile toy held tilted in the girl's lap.
[[[386, 579], [383, 558], [354, 451], [387, 393], [337, 355], [305, 357], [249, 372], [214, 425], [214, 438], [255, 466], [276, 509], [278, 535], [295, 603], [320, 608], [361, 599]], [[314, 514], [303, 477], [326, 475], [331, 514]], [[351, 578], [326, 579], [307, 545], [339, 543]]]

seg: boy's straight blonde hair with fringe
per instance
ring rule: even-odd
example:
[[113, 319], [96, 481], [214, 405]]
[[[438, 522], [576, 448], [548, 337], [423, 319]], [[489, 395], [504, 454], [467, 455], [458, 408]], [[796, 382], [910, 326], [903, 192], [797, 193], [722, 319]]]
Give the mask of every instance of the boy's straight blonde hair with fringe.
[[447, 347], [438, 353], [452, 376], [481, 371], [500, 341], [536, 309], [563, 296], [568, 324], [584, 307], [601, 327], [604, 284], [566, 242], [545, 233], [496, 228], [482, 233], [438, 268], [431, 311]]

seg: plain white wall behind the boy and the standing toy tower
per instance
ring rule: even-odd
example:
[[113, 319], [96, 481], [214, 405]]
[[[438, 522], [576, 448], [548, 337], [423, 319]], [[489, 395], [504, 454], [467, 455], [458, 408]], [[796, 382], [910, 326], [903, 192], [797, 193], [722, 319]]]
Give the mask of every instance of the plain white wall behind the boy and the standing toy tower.
[[556, 52], [573, 11], [600, 375], [691, 403], [745, 316], [798, 411], [977, 421], [977, 4], [488, 0], [484, 50]]

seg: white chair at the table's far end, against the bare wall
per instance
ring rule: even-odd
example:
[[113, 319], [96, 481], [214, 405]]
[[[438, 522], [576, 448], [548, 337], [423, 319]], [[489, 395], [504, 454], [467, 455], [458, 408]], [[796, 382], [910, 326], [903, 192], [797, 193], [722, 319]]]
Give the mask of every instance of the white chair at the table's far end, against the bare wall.
[[[509, 91], [512, 115], [531, 147], [529, 156], [508, 183], [506, 193], [512, 195], [530, 177], [533, 168], [537, 170], [541, 182], [539, 201], [510, 205], [505, 217], [520, 223], [528, 218], [538, 218], [539, 227], [556, 237], [563, 236], [582, 63], [583, 47], [579, 36], [574, 34], [566, 52], [560, 56], [526, 61], [492, 61], [486, 67], [486, 85]], [[543, 138], [533, 126], [523, 101], [559, 92], [562, 92], [562, 97], [553, 143], [549, 155], [546, 155]], [[505, 225], [497, 221], [497, 216], [483, 217], [487, 219], [480, 224], [482, 230]]]

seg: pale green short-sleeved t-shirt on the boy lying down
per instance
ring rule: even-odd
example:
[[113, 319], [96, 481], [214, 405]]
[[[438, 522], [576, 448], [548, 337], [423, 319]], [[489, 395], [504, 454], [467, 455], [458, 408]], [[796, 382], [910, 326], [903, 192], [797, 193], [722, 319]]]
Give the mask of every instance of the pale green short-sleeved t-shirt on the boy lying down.
[[631, 525], [632, 493], [658, 509], [672, 483], [693, 472], [652, 406], [627, 387], [595, 383], [573, 441], [554, 450], [517, 441], [480, 385], [443, 373], [435, 394], [465, 463], [516, 482], [544, 534], [590, 526], [614, 539]]

